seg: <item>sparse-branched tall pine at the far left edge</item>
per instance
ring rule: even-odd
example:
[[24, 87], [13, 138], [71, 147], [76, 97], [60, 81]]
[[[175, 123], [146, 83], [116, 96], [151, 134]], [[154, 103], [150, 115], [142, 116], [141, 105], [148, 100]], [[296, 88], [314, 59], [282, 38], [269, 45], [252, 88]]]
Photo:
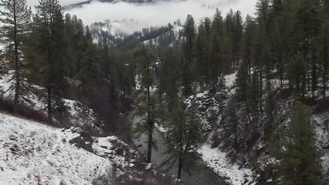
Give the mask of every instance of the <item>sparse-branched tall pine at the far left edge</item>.
[[26, 0], [1, 0], [0, 41], [6, 46], [6, 60], [14, 62], [13, 86], [15, 95], [13, 100], [13, 113], [18, 111], [19, 101], [24, 98], [29, 88], [26, 82], [27, 61], [24, 61], [26, 51], [25, 42], [30, 31], [31, 8], [27, 7]]

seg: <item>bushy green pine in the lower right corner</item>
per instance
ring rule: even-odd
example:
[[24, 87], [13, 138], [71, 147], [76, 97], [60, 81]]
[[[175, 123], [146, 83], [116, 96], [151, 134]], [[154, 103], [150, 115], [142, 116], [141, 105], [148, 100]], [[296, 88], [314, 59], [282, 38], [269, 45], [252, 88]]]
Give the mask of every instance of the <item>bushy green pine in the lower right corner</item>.
[[292, 107], [283, 151], [283, 184], [321, 184], [321, 153], [316, 146], [310, 109], [300, 102]]

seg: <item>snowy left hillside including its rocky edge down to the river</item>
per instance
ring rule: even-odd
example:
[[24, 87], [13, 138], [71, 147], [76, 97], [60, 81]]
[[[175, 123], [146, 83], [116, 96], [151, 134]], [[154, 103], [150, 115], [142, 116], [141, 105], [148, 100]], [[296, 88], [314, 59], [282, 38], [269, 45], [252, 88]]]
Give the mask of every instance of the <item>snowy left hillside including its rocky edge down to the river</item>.
[[[0, 113], [0, 184], [170, 184], [115, 136], [91, 137]], [[114, 183], [115, 182], [115, 183]]]

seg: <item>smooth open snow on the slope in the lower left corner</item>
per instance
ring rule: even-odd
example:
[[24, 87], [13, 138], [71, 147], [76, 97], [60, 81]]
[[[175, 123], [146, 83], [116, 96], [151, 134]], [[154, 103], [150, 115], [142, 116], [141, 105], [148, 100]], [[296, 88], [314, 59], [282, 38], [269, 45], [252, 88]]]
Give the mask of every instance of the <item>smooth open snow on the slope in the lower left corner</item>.
[[112, 162], [68, 141], [78, 136], [0, 114], [0, 184], [91, 184]]

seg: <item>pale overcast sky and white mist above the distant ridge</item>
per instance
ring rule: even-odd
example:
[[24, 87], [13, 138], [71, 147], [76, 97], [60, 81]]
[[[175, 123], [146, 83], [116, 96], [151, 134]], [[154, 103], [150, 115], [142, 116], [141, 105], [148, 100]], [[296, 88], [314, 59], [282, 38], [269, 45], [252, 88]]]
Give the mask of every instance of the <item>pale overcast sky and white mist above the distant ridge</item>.
[[[37, 4], [37, 0], [27, 0], [31, 6]], [[84, 0], [60, 0], [60, 4], [67, 5]], [[191, 14], [195, 20], [212, 17], [218, 7], [225, 16], [232, 8], [233, 11], [241, 11], [243, 18], [247, 14], [254, 15], [254, 6], [257, 0], [186, 0], [186, 1], [160, 1], [157, 4], [127, 4], [127, 3], [98, 3], [94, 2], [75, 8], [67, 13], [77, 15], [90, 25], [93, 22], [110, 20], [134, 19], [142, 25], [162, 26], [174, 22], [178, 18], [183, 22], [186, 15]]]

